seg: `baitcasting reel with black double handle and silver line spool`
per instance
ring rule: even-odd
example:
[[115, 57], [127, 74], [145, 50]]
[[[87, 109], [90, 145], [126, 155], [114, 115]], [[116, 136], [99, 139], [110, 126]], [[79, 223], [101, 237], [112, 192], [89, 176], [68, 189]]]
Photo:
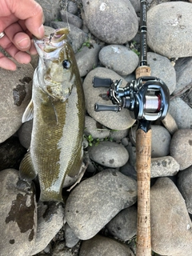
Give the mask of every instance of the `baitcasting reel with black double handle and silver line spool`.
[[107, 96], [113, 105], [95, 103], [95, 111], [130, 110], [134, 119], [155, 121], [166, 117], [170, 92], [166, 84], [156, 77], [141, 77], [120, 87], [122, 79], [113, 82], [110, 78], [93, 78], [94, 87], [108, 87]]

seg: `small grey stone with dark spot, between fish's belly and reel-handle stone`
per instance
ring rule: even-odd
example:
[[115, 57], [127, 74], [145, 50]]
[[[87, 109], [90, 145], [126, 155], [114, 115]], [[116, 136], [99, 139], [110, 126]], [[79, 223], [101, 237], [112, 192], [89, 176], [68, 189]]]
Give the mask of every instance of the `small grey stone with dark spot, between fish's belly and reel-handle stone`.
[[92, 138], [102, 139], [109, 137], [110, 130], [96, 122], [93, 118], [86, 116], [84, 134], [86, 135], [86, 137], [91, 135]]

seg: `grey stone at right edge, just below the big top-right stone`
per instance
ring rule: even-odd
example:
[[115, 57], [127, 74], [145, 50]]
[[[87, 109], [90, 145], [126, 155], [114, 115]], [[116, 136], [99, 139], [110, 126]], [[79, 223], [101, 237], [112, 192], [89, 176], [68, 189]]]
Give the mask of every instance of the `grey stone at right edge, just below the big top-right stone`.
[[176, 70], [177, 86], [174, 95], [184, 94], [191, 88], [192, 58], [179, 58], [174, 66]]

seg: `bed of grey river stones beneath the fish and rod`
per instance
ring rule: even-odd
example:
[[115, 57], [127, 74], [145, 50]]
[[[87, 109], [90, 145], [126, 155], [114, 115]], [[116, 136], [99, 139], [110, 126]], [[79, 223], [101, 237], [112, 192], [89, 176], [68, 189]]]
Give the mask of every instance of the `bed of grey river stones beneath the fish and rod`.
[[[134, 256], [137, 233], [136, 121], [130, 112], [95, 112], [107, 101], [95, 75], [135, 78], [139, 0], [38, 0], [47, 31], [70, 26], [86, 100], [85, 152], [90, 163], [65, 205], [37, 202], [38, 180], [18, 180], [33, 122], [22, 124], [38, 57], [0, 81], [0, 254], [2, 256]], [[170, 90], [166, 118], [153, 122], [151, 237], [153, 255], [192, 255], [192, 1], [147, 3], [151, 75]]]

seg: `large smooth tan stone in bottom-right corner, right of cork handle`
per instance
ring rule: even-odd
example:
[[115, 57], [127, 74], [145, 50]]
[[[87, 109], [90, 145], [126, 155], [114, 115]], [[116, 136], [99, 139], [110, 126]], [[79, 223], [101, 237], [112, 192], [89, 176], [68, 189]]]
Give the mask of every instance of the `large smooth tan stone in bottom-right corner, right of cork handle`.
[[170, 178], [158, 178], [150, 192], [152, 250], [190, 256], [192, 223], [185, 201]]

